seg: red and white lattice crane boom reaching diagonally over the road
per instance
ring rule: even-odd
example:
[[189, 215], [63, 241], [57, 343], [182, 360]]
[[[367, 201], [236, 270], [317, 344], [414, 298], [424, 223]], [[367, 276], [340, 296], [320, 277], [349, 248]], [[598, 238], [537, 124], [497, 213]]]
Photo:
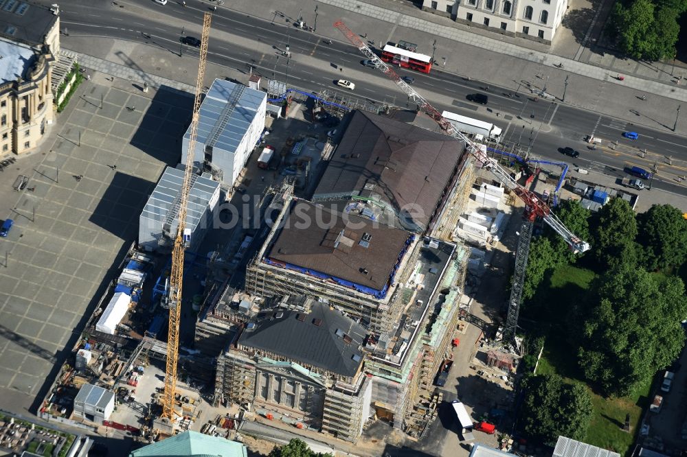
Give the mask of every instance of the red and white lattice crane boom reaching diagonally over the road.
[[441, 115], [439, 110], [434, 108], [427, 101], [427, 99], [425, 99], [425, 97], [420, 95], [415, 89], [409, 86], [409, 84], [403, 81], [401, 77], [398, 76], [396, 71], [392, 69], [392, 67], [387, 65], [383, 60], [381, 60], [381, 58], [374, 54], [374, 51], [372, 51], [372, 49], [370, 49], [370, 47], [368, 47], [368, 45], [366, 45], [357, 34], [346, 27], [346, 24], [344, 24], [342, 21], [337, 21], [334, 23], [334, 27], [337, 27], [337, 29], [339, 29], [341, 33], [348, 38], [352, 45], [357, 47], [364, 56], [369, 58], [374, 63], [376, 69], [394, 81], [396, 85], [406, 93], [409, 99], [412, 99], [413, 102], [418, 105], [418, 110], [427, 113], [427, 115], [434, 119], [434, 121], [439, 124], [442, 130], [451, 135], [451, 137], [454, 137], [460, 141], [464, 141], [468, 152], [470, 152], [470, 154], [472, 154], [477, 161], [482, 163], [484, 168], [488, 169], [492, 174], [494, 174], [499, 181], [504, 184], [504, 186], [508, 187], [508, 189], [513, 191], [515, 195], [525, 202], [525, 215], [528, 220], [532, 221], [537, 217], [542, 218], [544, 222], [554, 229], [556, 233], [565, 239], [565, 242], [567, 242], [567, 244], [569, 244], [572, 250], [574, 250], [576, 253], [583, 253], [585, 250], [589, 249], [589, 244], [567, 229], [565, 224], [563, 224], [563, 222], [561, 222], [561, 220], [551, 212], [551, 209], [548, 207], [548, 205], [543, 202], [543, 200], [541, 200], [537, 194], [534, 194], [534, 192], [519, 185], [513, 176], [510, 176], [510, 172], [508, 172], [507, 169], [489, 157], [486, 154], [485, 145], [476, 144], [471, 139], [466, 137], [462, 132], [459, 132], [458, 129], [451, 124], [451, 122]]

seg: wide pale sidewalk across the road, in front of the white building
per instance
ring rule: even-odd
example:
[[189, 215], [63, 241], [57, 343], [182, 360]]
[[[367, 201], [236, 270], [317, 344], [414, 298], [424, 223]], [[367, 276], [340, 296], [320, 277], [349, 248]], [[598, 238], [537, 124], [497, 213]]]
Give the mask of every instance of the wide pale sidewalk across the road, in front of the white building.
[[[344, 41], [332, 25], [342, 19], [354, 32], [368, 34], [367, 39], [375, 46], [401, 39], [418, 43], [418, 51], [434, 55], [438, 62], [435, 71], [484, 80], [511, 91], [522, 87], [524, 82], [533, 86], [539, 83], [537, 89], [541, 90], [546, 80], [547, 92], [559, 102], [565, 93], [566, 104], [635, 124], [637, 117], [629, 112], [631, 108], [641, 106], [652, 117], [664, 115], [666, 122], [672, 119], [672, 124], [679, 104], [687, 102], [687, 88], [671, 82], [670, 65], [622, 60], [611, 54], [593, 54], [589, 56], [592, 63], [585, 63], [575, 60], [574, 54], [571, 58], [548, 54], [548, 47], [541, 43], [508, 36], [494, 38], [496, 35], [491, 32], [423, 12], [401, 1], [283, 0], [278, 11], [286, 19], [252, 0], [232, 0], [221, 8], [267, 21], [276, 17], [280, 24], [291, 24], [295, 18], [303, 16], [306, 24], [316, 26], [316, 34]], [[387, 23], [386, 26], [380, 21]], [[559, 64], [563, 64], [562, 69], [555, 66]], [[676, 69], [674, 73], [682, 74], [682, 71]], [[615, 78], [619, 74], [624, 76], [624, 81]], [[543, 75], [543, 78], [538, 80], [535, 75]], [[647, 95], [646, 102], [637, 98], [642, 95]], [[655, 124], [647, 126], [656, 128]], [[686, 117], [679, 119], [675, 132], [687, 132]]]

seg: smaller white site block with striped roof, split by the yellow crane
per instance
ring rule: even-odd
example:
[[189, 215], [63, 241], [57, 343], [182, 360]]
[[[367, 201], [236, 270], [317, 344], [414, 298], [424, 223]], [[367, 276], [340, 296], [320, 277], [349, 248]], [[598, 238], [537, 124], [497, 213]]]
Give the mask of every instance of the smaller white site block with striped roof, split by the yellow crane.
[[[212, 226], [220, 183], [212, 180], [210, 174], [193, 174], [191, 180], [186, 229], [190, 234], [190, 250], [195, 251], [203, 241], [205, 231]], [[167, 167], [139, 217], [139, 248], [153, 251], [161, 246], [171, 246], [179, 226], [182, 184], [183, 169]]]

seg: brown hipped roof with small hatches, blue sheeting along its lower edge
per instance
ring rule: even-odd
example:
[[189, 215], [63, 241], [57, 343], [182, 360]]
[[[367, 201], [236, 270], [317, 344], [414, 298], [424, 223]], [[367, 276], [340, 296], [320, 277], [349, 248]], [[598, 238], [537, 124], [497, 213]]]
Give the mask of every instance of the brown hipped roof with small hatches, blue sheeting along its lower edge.
[[292, 202], [284, 218], [284, 227], [269, 251], [270, 259], [374, 290], [383, 290], [411, 236], [356, 215], [344, 218], [306, 200]]

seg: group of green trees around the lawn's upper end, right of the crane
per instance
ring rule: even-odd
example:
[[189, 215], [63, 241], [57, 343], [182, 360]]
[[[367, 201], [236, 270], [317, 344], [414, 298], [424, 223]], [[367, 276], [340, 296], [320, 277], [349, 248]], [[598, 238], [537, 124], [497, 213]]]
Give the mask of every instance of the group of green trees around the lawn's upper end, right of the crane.
[[556, 212], [592, 248], [572, 256], [552, 231], [533, 239], [524, 305], [562, 264], [594, 270], [596, 280], [585, 299], [569, 309], [567, 331], [574, 336], [568, 342], [577, 351], [581, 373], [601, 392], [635, 392], [684, 345], [687, 298], [675, 272], [687, 261], [687, 220], [671, 205], [635, 215], [620, 198], [594, 215], [572, 201]]

